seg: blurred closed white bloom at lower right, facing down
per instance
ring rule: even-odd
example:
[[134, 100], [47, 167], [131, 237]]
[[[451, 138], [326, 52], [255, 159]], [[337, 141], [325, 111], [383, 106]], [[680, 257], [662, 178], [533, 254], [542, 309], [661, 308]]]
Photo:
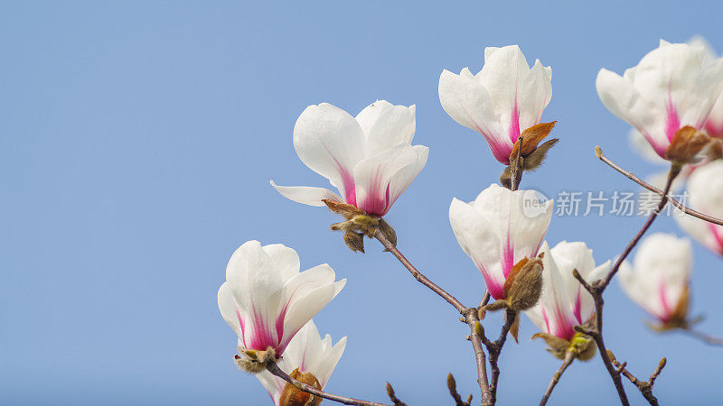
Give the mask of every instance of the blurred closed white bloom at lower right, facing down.
[[690, 241], [654, 233], [643, 239], [633, 264], [625, 261], [618, 272], [623, 291], [662, 323], [671, 321], [688, 288], [693, 253]]

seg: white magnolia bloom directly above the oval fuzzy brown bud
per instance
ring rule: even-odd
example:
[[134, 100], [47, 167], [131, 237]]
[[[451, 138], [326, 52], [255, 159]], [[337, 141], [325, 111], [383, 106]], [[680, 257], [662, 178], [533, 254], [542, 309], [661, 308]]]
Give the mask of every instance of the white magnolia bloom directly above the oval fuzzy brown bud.
[[469, 203], [454, 198], [449, 222], [457, 242], [482, 272], [495, 300], [504, 298], [503, 286], [512, 267], [538, 254], [552, 218], [553, 201], [538, 202], [532, 190], [492, 184]]

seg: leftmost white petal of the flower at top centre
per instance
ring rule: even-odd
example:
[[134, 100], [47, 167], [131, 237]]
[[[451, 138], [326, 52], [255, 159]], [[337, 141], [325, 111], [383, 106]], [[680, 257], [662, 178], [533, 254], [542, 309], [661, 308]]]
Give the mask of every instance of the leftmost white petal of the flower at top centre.
[[509, 164], [512, 141], [495, 114], [487, 89], [463, 69], [460, 75], [445, 70], [439, 77], [439, 101], [446, 114], [460, 125], [484, 136], [494, 158]]

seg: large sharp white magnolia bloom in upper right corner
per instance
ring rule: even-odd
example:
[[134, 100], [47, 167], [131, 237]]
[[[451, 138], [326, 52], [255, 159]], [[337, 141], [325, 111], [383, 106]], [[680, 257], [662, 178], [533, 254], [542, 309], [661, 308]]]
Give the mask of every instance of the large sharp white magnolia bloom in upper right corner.
[[678, 130], [706, 124], [723, 90], [723, 60], [711, 60], [701, 46], [661, 40], [622, 77], [600, 69], [596, 88], [607, 109], [664, 157]]

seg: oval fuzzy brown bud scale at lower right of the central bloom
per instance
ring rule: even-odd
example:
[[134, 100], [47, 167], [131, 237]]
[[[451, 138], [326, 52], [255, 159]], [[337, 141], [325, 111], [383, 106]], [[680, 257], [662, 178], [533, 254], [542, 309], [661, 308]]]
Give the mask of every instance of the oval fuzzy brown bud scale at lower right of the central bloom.
[[510, 309], [522, 311], [536, 305], [542, 291], [542, 260], [522, 258], [512, 267], [503, 291]]

